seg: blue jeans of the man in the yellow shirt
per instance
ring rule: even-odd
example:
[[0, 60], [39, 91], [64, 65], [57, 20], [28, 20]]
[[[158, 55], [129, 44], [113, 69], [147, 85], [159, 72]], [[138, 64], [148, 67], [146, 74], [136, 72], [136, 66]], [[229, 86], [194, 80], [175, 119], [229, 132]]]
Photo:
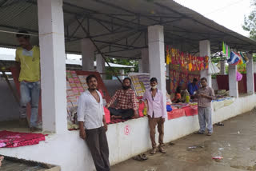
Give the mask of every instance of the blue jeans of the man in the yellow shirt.
[[38, 102], [40, 96], [40, 82], [21, 82], [21, 101], [20, 101], [20, 117], [26, 118], [26, 105], [30, 102], [31, 116], [30, 127], [36, 127], [38, 121]]

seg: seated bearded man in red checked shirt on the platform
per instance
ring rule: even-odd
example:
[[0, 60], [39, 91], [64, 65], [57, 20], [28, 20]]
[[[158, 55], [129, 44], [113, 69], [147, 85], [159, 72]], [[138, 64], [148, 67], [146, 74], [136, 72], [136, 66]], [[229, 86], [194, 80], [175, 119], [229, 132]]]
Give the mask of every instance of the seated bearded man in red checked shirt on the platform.
[[[118, 89], [106, 108], [110, 110], [112, 118], [129, 119], [133, 116], [138, 117], [138, 105], [136, 101], [135, 92], [130, 87], [130, 78], [125, 78], [122, 82], [122, 89]], [[118, 100], [116, 108], [110, 108], [110, 105]]]

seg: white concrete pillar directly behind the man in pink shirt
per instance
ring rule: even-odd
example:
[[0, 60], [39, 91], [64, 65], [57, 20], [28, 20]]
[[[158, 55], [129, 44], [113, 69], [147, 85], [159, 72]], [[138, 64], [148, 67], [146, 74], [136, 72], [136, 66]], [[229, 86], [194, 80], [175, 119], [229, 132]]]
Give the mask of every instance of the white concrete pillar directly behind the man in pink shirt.
[[166, 93], [166, 66], [163, 26], [148, 27], [150, 78], [158, 78], [158, 89]]

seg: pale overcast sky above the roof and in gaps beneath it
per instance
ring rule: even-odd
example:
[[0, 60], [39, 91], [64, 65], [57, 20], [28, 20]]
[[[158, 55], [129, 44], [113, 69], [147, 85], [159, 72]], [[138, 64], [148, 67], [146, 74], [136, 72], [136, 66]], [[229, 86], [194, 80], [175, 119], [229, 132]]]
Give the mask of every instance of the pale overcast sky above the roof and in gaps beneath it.
[[[174, 0], [218, 22], [230, 30], [248, 37], [242, 30], [244, 16], [250, 14], [250, 0]], [[15, 54], [15, 50], [0, 48], [0, 54]], [[80, 58], [80, 55], [67, 55], [68, 58]]]

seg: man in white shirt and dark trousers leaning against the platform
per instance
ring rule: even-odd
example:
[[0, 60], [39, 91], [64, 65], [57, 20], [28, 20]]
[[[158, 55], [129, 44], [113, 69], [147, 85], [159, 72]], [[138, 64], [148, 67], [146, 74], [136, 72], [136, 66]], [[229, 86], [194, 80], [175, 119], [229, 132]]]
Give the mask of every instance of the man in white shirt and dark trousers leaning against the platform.
[[89, 89], [78, 101], [80, 137], [86, 140], [97, 171], [110, 171], [109, 147], [106, 139], [107, 125], [101, 93], [97, 90], [97, 78], [86, 78]]

